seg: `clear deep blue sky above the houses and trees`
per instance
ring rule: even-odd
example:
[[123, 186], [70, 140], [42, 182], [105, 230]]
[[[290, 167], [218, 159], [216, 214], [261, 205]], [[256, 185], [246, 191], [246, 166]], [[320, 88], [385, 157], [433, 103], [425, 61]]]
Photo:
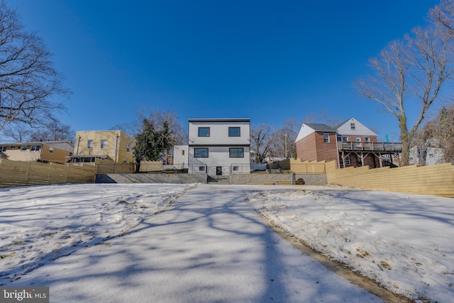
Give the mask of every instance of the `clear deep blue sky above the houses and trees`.
[[[281, 128], [326, 112], [398, 141], [397, 119], [353, 82], [387, 43], [425, 24], [431, 0], [7, 0], [54, 54], [74, 131], [138, 111], [250, 118]], [[61, 97], [59, 97], [61, 98]], [[410, 121], [412, 122], [412, 121]]]

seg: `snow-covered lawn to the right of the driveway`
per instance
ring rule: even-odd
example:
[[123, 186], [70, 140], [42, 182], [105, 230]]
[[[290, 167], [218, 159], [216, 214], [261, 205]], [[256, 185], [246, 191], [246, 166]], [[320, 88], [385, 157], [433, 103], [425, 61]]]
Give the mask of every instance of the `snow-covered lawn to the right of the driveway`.
[[412, 299], [453, 302], [454, 199], [375, 191], [260, 191], [276, 226]]

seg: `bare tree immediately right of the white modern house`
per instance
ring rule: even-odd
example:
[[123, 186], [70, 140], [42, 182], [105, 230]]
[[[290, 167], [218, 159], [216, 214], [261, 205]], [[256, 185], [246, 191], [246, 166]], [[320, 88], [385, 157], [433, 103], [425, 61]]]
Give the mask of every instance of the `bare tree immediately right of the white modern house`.
[[250, 128], [250, 148], [255, 153], [255, 162], [262, 163], [275, 146], [275, 135], [270, 126], [260, 124]]

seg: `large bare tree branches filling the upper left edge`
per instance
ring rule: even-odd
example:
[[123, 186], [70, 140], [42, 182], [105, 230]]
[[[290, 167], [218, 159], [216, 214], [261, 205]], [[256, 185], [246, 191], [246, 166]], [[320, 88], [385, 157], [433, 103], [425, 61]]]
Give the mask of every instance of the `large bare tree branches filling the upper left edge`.
[[25, 30], [18, 13], [0, 1], [0, 131], [11, 123], [39, 126], [62, 110], [68, 94], [43, 40]]

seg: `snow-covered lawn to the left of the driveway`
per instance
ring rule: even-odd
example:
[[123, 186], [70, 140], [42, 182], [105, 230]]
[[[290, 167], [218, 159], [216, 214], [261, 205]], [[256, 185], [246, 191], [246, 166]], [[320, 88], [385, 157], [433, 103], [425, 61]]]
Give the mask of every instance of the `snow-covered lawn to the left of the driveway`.
[[189, 185], [74, 184], [0, 190], [0, 285], [62, 255], [118, 236]]

